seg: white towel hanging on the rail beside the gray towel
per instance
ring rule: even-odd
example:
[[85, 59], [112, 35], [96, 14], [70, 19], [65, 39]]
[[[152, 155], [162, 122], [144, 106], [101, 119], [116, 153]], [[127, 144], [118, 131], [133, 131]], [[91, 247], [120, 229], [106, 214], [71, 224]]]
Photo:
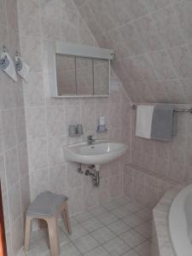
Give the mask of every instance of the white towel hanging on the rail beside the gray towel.
[[151, 138], [151, 125], [154, 113], [154, 106], [137, 106], [136, 136]]

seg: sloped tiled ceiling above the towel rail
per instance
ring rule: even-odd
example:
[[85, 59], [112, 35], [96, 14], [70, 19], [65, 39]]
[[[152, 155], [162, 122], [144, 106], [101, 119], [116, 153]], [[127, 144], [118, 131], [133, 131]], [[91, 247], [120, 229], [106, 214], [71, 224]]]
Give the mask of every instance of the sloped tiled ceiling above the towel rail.
[[192, 1], [73, 0], [131, 102], [192, 103]]

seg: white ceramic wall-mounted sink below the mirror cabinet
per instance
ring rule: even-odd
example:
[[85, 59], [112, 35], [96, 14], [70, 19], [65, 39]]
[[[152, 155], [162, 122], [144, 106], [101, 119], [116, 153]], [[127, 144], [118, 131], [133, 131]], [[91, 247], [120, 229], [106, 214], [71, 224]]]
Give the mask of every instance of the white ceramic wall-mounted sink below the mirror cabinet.
[[96, 140], [92, 145], [76, 143], [64, 147], [63, 150], [66, 160], [84, 165], [95, 165], [98, 168], [102, 164], [118, 159], [127, 148], [128, 146], [123, 143]]

